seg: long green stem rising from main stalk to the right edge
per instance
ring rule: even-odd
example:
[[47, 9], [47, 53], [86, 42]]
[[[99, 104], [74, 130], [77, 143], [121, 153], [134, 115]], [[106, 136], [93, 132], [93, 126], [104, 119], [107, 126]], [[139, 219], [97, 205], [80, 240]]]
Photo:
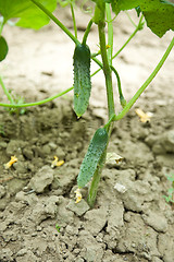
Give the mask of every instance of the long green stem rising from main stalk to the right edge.
[[139, 96], [142, 94], [142, 92], [146, 90], [146, 87], [151, 83], [151, 81], [154, 79], [163, 63], [165, 62], [167, 56], [170, 55], [172, 48], [174, 46], [174, 37], [171, 40], [167, 49], [165, 50], [163, 57], [161, 58], [160, 62], [153, 70], [153, 72], [149, 75], [149, 78], [145, 81], [145, 83], [141, 85], [141, 87], [137, 91], [137, 93], [133, 96], [133, 98], [126, 104], [126, 106], [123, 108], [123, 110], [115, 117], [115, 121], [122, 119], [132, 108], [132, 106], [136, 103], [136, 100], [139, 98]]

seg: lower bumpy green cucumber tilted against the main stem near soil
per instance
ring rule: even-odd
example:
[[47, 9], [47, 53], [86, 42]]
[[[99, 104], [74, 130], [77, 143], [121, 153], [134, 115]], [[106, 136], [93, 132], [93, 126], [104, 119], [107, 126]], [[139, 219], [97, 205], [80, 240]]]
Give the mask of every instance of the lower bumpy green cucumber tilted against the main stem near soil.
[[102, 153], [107, 147], [108, 138], [108, 132], [104, 128], [99, 128], [96, 131], [80, 165], [79, 174], [77, 177], [78, 188], [84, 188], [92, 178]]

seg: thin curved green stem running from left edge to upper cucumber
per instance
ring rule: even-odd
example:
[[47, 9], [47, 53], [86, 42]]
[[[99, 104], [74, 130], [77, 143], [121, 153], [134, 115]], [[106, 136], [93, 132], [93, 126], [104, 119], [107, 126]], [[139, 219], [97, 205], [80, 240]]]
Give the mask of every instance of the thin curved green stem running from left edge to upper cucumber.
[[3, 103], [0, 103], [0, 106], [3, 106], [3, 107], [12, 107], [12, 108], [20, 108], [20, 107], [30, 107], [30, 106], [39, 106], [39, 105], [42, 105], [45, 103], [48, 103], [48, 102], [51, 102], [60, 96], [63, 96], [65, 95], [66, 93], [69, 93], [70, 91], [72, 91], [74, 87], [70, 87], [54, 96], [50, 96], [44, 100], [39, 100], [39, 102], [34, 102], [34, 103], [27, 103], [27, 104], [21, 104], [21, 105], [16, 105], [16, 104], [3, 104]]

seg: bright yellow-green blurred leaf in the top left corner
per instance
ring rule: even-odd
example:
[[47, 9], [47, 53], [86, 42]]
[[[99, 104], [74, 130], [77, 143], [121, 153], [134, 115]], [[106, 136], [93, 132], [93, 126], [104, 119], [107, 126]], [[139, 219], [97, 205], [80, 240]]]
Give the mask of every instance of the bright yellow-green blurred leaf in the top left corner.
[[[51, 12], [57, 8], [57, 0], [38, 0], [38, 2]], [[33, 29], [39, 29], [50, 21], [30, 0], [0, 0], [0, 13], [4, 17], [4, 23], [16, 17], [17, 26]]]

